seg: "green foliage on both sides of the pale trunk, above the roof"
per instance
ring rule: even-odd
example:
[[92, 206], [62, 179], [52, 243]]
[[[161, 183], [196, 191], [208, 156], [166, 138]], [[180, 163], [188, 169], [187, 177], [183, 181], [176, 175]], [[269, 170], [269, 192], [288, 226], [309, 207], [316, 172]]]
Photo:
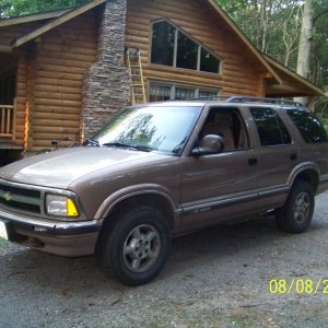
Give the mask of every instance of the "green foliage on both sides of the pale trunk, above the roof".
[[[302, 0], [215, 0], [251, 43], [292, 70], [296, 69]], [[309, 80], [328, 90], [328, 1], [312, 0], [314, 30]]]

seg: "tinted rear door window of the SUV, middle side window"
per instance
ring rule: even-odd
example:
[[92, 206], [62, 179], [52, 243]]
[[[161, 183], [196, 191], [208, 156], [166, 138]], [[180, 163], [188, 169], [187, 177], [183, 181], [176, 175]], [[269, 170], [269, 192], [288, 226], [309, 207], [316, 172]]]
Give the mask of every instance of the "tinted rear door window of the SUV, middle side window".
[[261, 145], [291, 143], [291, 137], [285, 125], [273, 109], [254, 107], [250, 108], [250, 113], [257, 126]]

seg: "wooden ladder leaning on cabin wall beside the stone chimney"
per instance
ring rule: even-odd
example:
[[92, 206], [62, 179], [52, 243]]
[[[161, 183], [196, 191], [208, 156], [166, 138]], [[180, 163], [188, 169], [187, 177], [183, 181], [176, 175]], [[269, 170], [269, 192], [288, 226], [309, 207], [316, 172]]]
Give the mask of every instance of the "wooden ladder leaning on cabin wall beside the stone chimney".
[[145, 103], [144, 81], [140, 49], [126, 49], [126, 61], [131, 79], [131, 105]]

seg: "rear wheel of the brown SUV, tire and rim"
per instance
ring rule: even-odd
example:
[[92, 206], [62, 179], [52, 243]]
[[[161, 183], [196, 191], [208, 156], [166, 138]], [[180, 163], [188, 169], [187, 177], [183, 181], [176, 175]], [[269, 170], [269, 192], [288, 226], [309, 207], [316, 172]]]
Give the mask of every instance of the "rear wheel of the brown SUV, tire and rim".
[[285, 204], [278, 210], [278, 226], [290, 233], [304, 232], [313, 218], [315, 207], [313, 187], [304, 181], [295, 181]]

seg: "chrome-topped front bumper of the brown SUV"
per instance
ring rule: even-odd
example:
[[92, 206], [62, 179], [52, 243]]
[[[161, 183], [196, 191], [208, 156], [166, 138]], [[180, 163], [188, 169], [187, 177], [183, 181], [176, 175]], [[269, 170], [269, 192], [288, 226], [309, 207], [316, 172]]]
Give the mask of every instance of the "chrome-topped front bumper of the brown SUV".
[[93, 254], [102, 227], [98, 220], [52, 221], [8, 212], [2, 208], [0, 220], [5, 224], [10, 242], [70, 257]]

